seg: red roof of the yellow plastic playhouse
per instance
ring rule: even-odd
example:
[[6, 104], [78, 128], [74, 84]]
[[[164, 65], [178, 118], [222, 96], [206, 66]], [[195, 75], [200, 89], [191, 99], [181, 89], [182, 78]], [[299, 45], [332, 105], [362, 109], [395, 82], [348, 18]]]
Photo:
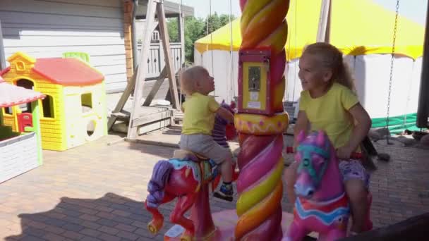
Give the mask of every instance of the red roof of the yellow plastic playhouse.
[[75, 58], [37, 58], [35, 73], [58, 85], [94, 85], [104, 76]]

